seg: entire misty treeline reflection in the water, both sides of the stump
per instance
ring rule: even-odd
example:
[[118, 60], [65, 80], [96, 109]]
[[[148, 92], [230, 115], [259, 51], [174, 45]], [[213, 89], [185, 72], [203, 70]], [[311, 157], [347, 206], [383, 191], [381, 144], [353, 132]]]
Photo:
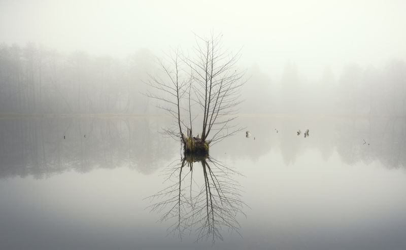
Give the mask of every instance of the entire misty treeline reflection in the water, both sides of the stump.
[[[160, 117], [0, 119], [0, 177], [40, 178], [120, 166], [150, 174], [181, 150], [159, 133], [168, 122]], [[293, 164], [316, 149], [325, 160], [336, 152], [347, 164], [406, 166], [406, 122], [401, 118], [240, 118], [240, 123], [250, 129], [251, 138], [245, 132], [232, 136], [213, 147], [213, 154], [255, 161], [280, 151], [285, 164]], [[307, 128], [308, 138], [296, 135]]]

